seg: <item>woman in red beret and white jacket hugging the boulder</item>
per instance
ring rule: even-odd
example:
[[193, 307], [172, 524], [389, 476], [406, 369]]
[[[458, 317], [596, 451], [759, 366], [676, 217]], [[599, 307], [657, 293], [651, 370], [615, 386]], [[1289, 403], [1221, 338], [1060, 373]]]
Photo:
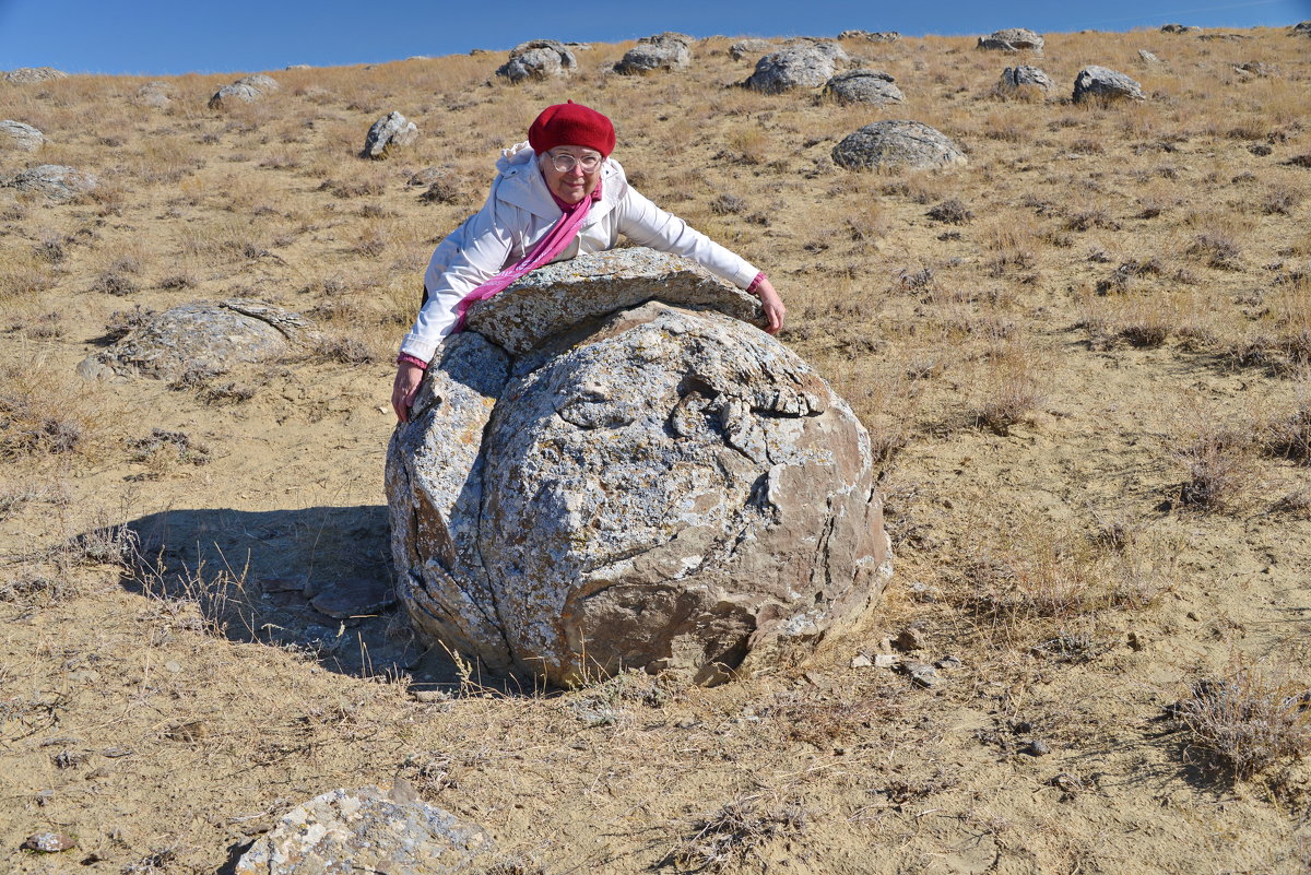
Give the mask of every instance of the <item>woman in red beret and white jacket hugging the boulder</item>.
[[610, 119], [569, 101], [543, 110], [528, 141], [505, 149], [486, 204], [438, 245], [423, 275], [423, 307], [396, 359], [397, 419], [409, 422], [423, 371], [442, 339], [463, 326], [473, 301], [543, 265], [612, 249], [620, 233], [691, 258], [759, 296], [766, 330], [783, 327], [785, 308], [770, 279], [640, 195], [610, 157], [614, 148]]

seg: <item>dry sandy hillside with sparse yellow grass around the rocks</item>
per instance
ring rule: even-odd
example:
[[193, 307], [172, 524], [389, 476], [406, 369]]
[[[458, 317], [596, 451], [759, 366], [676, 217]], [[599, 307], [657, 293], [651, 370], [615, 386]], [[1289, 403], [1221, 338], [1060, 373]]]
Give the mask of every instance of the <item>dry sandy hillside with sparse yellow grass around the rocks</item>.
[[[0, 187], [0, 866], [231, 871], [291, 807], [405, 778], [501, 871], [1311, 871], [1307, 39], [843, 39], [882, 105], [737, 88], [759, 54], [722, 38], [646, 76], [614, 72], [632, 43], [519, 85], [502, 52], [271, 71], [214, 107], [237, 73], [0, 81], [41, 132], [0, 130], [0, 177], [72, 169]], [[1051, 92], [999, 94], [1019, 64]], [[1074, 103], [1088, 65], [1145, 100]], [[874, 438], [897, 574], [800, 664], [507, 688], [389, 605], [395, 346], [565, 97], [771, 274]], [[361, 157], [391, 111], [417, 136]], [[880, 119], [966, 164], [836, 166]], [[233, 299], [315, 334], [77, 369]]]

